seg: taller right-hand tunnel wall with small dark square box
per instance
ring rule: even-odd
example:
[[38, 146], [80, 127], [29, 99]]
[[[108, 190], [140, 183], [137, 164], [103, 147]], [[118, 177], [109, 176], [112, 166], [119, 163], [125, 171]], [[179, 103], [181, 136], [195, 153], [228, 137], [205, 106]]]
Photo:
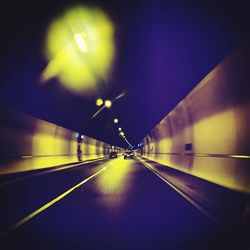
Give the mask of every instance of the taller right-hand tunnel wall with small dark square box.
[[150, 131], [145, 157], [250, 192], [249, 45], [225, 58]]

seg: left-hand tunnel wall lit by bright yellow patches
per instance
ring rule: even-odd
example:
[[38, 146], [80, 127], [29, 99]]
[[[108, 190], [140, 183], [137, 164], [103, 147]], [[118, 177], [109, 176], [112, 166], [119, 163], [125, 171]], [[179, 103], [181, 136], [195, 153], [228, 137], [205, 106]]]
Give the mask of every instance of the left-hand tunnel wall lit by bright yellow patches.
[[[0, 107], [0, 174], [77, 162], [76, 132]], [[84, 135], [82, 160], [105, 156], [108, 144]]]

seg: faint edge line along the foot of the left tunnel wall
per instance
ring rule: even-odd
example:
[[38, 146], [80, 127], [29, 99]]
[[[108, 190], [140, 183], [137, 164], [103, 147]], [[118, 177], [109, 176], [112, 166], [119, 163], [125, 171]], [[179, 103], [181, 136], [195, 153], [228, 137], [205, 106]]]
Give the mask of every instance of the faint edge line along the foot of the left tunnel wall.
[[[58, 167], [58, 168], [45, 170], [45, 171], [37, 173], [37, 174], [32, 174], [31, 173], [28, 176], [24, 176], [24, 177], [20, 177], [20, 178], [11, 180], [11, 181], [6, 181], [6, 182], [3, 182], [3, 183], [0, 183], [0, 187], [5, 186], [5, 185], [9, 185], [9, 184], [13, 184], [13, 183], [16, 183], [16, 182], [19, 182], [19, 181], [23, 181], [23, 180], [28, 180], [30, 178], [41, 176], [41, 175], [44, 175], [44, 174], [49, 174], [49, 173], [52, 173], [52, 172], [57, 172], [57, 171], [61, 171], [61, 170], [69, 169], [69, 168], [74, 168], [74, 167], [81, 166], [81, 165], [86, 165], [86, 164], [89, 164], [89, 163], [96, 163], [98, 161], [102, 161], [102, 160], [105, 160], [105, 159], [106, 158], [101, 158], [101, 159], [96, 159], [96, 160], [87, 160], [87, 161], [84, 161], [84, 162], [81, 162], [81, 163], [76, 163], [76, 164], [70, 165], [70, 166], [64, 166], [64, 167]], [[38, 170], [43, 170], [43, 169], [38, 169]], [[19, 173], [22, 173], [22, 172], [19, 172]]]

